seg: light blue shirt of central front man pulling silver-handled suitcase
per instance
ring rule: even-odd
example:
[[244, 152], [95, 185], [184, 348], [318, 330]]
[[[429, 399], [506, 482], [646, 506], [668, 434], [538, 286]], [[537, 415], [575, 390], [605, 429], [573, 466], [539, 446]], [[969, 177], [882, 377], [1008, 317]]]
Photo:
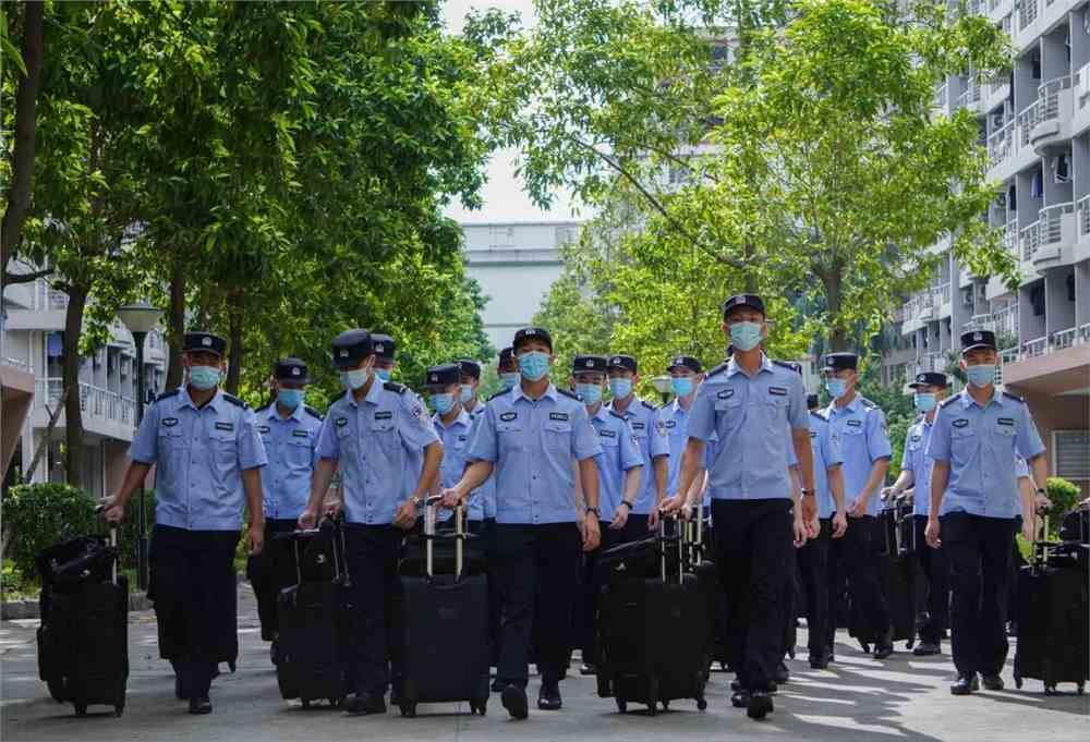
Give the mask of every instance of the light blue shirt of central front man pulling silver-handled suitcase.
[[488, 401], [468, 458], [495, 464], [496, 522], [576, 521], [576, 461], [602, 452], [586, 408], [552, 384], [537, 400], [521, 385]]

